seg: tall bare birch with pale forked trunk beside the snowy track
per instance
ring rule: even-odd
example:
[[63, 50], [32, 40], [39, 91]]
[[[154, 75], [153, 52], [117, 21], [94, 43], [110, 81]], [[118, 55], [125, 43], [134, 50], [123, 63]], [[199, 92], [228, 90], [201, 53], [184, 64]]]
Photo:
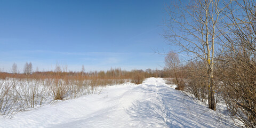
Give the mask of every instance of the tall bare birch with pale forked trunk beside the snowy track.
[[171, 45], [180, 48], [179, 52], [187, 52], [190, 59], [204, 61], [208, 78], [207, 98], [209, 108], [213, 110], [214, 55], [221, 36], [219, 23], [226, 17], [225, 10], [232, 2], [233, 0], [179, 1], [166, 7], [170, 20], [166, 22], [164, 36]]

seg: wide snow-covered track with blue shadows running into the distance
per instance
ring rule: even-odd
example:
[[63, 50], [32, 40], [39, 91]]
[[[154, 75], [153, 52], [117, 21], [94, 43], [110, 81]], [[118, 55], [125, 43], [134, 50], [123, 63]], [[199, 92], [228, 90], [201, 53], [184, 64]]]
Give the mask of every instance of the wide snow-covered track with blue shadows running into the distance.
[[162, 78], [140, 85], [107, 86], [100, 94], [54, 101], [0, 117], [0, 127], [235, 127], [217, 112], [198, 105]]

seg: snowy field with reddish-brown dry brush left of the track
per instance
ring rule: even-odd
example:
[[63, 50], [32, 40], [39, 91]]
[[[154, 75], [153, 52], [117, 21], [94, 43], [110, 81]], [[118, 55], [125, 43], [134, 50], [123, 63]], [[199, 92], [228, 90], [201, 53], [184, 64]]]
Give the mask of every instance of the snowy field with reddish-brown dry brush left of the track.
[[152, 75], [156, 74], [143, 70], [125, 71], [119, 68], [83, 74], [61, 70], [27, 75], [0, 73], [0, 115], [12, 117], [19, 111], [42, 106], [52, 100], [100, 93], [103, 87], [109, 85], [130, 81], [140, 84], [146, 76]]

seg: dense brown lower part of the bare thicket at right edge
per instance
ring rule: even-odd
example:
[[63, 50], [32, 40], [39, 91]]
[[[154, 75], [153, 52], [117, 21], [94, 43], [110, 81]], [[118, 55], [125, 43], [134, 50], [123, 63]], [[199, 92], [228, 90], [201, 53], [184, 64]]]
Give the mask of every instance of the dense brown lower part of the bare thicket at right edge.
[[246, 51], [229, 54], [225, 57], [221, 69], [222, 94], [231, 115], [237, 117], [246, 126], [256, 126], [255, 59], [250, 59]]

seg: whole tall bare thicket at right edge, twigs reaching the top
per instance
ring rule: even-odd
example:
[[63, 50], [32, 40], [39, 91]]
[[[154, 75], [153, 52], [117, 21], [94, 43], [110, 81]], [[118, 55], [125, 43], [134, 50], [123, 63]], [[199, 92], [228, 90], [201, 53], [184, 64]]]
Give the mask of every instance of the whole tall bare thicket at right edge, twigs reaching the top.
[[231, 117], [256, 127], [256, 7], [255, 1], [236, 1], [242, 15], [230, 12], [225, 52], [219, 59], [222, 95]]

